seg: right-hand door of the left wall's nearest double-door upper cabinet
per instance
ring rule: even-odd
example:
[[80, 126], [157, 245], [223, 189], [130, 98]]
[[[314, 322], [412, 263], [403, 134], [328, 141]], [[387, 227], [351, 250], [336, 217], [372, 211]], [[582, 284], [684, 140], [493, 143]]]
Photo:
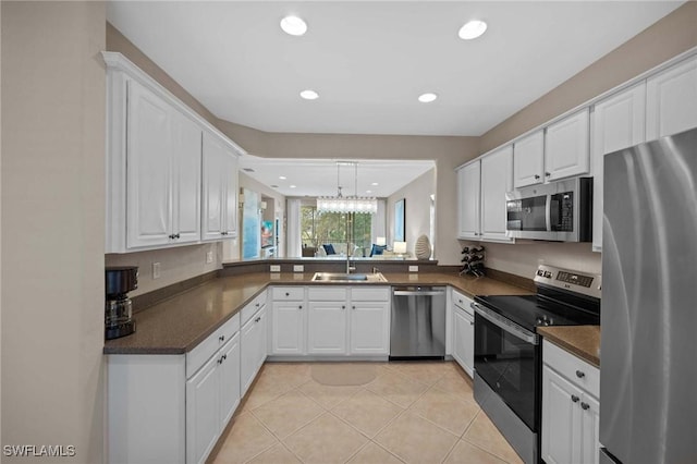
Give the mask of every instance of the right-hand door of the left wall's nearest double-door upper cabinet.
[[172, 234], [175, 243], [200, 239], [201, 130], [191, 119], [172, 114]]

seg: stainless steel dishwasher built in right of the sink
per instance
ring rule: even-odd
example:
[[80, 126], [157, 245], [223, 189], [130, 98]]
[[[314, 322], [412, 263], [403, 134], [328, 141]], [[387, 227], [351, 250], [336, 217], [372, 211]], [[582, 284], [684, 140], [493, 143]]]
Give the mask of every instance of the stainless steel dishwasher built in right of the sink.
[[390, 359], [443, 359], [445, 288], [393, 286]]

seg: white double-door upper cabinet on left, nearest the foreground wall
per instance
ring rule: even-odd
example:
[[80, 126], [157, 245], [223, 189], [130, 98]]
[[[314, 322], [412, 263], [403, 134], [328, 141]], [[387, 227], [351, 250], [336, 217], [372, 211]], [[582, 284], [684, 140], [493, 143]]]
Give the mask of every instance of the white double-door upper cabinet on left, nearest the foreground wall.
[[145, 86], [124, 84], [126, 130], [111, 136], [125, 147], [114, 157], [125, 166], [126, 220], [107, 218], [114, 239], [108, 252], [198, 242], [201, 130]]

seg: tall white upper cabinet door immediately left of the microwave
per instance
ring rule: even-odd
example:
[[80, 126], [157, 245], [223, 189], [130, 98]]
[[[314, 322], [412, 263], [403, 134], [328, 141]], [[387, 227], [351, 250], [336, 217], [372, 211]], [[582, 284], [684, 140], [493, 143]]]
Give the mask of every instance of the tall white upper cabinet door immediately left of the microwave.
[[505, 234], [505, 193], [512, 190], [513, 146], [509, 145], [481, 157], [481, 240], [512, 241]]

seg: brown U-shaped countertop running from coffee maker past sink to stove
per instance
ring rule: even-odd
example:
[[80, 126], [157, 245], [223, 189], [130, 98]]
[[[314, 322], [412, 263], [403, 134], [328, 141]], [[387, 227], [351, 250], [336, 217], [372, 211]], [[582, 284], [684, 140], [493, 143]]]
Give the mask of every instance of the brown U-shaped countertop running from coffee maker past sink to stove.
[[[388, 282], [354, 285], [443, 284], [469, 295], [530, 294], [519, 286], [490, 278], [444, 272], [384, 273]], [[313, 273], [256, 272], [219, 277], [161, 301], [135, 315], [136, 332], [105, 342], [105, 354], [184, 354], [239, 313], [268, 285], [347, 285], [311, 282]]]

